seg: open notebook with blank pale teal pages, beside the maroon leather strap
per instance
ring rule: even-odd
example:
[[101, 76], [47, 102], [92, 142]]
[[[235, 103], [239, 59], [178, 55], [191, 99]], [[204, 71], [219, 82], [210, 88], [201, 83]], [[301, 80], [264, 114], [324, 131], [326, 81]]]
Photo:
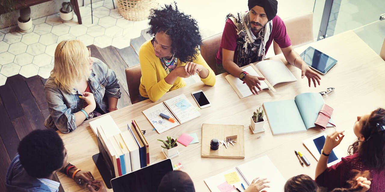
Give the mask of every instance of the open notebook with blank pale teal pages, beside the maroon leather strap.
[[[302, 93], [294, 99], [263, 103], [273, 135], [303, 132], [314, 125], [325, 103], [319, 93]], [[330, 119], [331, 123], [333, 120]], [[332, 127], [328, 124], [328, 127]]]

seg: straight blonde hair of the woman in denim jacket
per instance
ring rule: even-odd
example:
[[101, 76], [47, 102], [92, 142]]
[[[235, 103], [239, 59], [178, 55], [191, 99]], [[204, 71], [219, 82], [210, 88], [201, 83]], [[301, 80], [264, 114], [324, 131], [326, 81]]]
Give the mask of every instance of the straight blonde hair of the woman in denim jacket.
[[79, 40], [64, 40], [56, 46], [51, 77], [67, 93], [72, 93], [76, 84], [90, 75], [89, 53], [85, 48]]

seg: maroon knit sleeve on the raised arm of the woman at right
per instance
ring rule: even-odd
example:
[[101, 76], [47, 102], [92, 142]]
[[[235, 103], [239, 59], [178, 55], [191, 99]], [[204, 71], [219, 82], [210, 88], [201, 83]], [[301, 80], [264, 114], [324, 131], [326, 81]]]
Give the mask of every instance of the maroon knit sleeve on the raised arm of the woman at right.
[[341, 158], [337, 164], [328, 167], [315, 179], [316, 183], [322, 187], [332, 190], [336, 187], [345, 187], [346, 181], [350, 179], [352, 162], [357, 158], [357, 154]]

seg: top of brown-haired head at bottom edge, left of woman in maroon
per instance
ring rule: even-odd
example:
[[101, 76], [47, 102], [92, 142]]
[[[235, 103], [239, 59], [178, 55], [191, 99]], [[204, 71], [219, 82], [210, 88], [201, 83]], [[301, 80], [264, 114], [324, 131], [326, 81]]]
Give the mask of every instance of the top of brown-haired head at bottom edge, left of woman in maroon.
[[285, 192], [318, 192], [319, 188], [316, 182], [308, 175], [297, 175], [286, 181]]

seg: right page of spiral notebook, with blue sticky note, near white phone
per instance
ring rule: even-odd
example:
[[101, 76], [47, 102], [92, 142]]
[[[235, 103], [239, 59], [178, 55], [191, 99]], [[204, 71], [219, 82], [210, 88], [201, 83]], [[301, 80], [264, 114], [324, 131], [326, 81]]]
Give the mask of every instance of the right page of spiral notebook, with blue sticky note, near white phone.
[[184, 94], [168, 99], [164, 104], [181, 124], [201, 116]]

